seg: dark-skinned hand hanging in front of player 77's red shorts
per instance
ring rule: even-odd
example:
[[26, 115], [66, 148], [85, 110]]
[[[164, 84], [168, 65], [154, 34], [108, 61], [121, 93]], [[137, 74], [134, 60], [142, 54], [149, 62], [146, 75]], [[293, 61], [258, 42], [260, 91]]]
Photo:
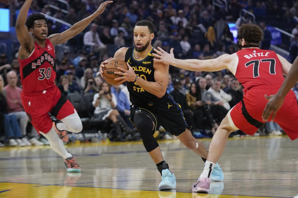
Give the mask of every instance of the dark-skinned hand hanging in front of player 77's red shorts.
[[266, 107], [263, 111], [263, 114], [262, 114], [262, 119], [263, 121], [267, 121], [269, 119], [269, 117], [271, 116], [272, 114], [272, 118], [271, 118], [271, 121], [274, 120], [275, 118], [275, 115], [277, 113], [277, 111], [280, 109], [280, 107], [283, 105], [283, 100], [284, 98], [279, 98], [277, 97], [277, 95], [270, 95], [270, 96], [267, 96], [265, 94], [265, 98], [268, 101], [268, 103], [266, 104]]

